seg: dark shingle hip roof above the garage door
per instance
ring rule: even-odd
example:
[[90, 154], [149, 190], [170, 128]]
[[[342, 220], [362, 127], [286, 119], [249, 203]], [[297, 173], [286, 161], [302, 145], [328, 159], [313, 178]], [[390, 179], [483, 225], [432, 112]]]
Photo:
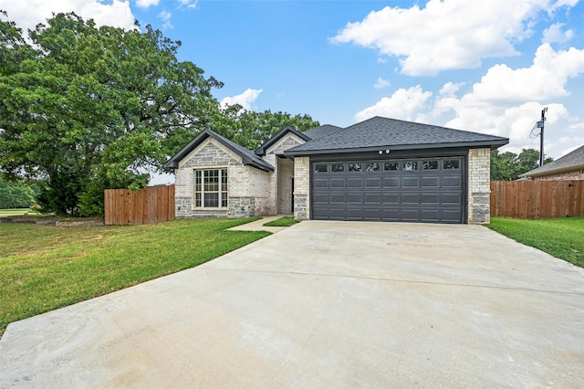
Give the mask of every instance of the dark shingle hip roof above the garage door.
[[298, 145], [286, 155], [330, 152], [368, 152], [386, 148], [412, 150], [441, 147], [499, 147], [507, 138], [483, 133], [453, 130], [429, 124], [376, 116], [344, 130]]

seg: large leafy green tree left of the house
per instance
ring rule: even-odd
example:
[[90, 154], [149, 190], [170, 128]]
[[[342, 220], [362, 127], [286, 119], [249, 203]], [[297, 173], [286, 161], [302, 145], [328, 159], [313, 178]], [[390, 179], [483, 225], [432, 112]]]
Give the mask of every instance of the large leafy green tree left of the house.
[[[0, 19], [0, 170], [44, 179], [57, 214], [95, 213], [104, 188], [139, 188], [218, 110], [181, 43], [58, 14], [29, 31]], [[83, 199], [83, 201], [81, 201]]]

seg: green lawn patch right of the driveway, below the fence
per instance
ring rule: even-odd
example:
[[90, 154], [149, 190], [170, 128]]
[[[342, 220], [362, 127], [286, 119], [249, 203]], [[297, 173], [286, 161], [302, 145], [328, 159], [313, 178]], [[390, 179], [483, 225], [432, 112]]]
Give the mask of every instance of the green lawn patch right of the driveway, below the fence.
[[584, 268], [584, 217], [537, 220], [492, 217], [488, 227]]

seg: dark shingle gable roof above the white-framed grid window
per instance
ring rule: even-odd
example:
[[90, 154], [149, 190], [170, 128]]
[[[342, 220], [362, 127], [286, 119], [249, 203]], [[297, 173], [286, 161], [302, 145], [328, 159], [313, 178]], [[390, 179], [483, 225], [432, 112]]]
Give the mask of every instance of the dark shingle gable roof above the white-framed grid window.
[[226, 148], [235, 152], [239, 155], [242, 159], [242, 162], [245, 165], [254, 166], [257, 169], [263, 170], [265, 172], [273, 172], [274, 166], [269, 163], [266, 163], [263, 159], [259, 158], [255, 155], [254, 152], [251, 150], [247, 150], [245, 147], [240, 146], [235, 142], [231, 142], [224, 136], [219, 135], [217, 132], [211, 131], [209, 129], [202, 131], [199, 135], [197, 135], [193, 141], [189, 142], [180, 152], [177, 152], [167, 163], [164, 163], [164, 167], [172, 167], [177, 168], [179, 167], [179, 162], [186, 157], [190, 152], [192, 152], [199, 144], [201, 144], [205, 139], [208, 137], [213, 138], [215, 141], [220, 142]]

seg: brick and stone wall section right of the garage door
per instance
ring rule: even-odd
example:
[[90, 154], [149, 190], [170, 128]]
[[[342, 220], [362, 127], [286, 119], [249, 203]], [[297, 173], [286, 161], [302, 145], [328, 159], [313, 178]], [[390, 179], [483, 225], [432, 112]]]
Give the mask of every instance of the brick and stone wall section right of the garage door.
[[491, 149], [468, 151], [468, 223], [491, 221]]

